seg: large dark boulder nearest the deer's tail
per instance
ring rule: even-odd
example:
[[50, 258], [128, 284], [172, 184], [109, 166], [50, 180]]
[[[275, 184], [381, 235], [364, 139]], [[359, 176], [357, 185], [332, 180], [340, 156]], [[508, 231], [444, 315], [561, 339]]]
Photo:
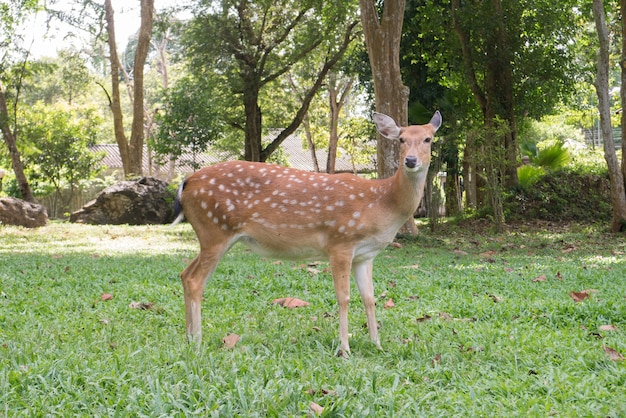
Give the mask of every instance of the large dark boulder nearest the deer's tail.
[[173, 201], [174, 193], [162, 180], [144, 177], [137, 181], [121, 181], [72, 213], [70, 222], [92, 225], [165, 224], [174, 219]]

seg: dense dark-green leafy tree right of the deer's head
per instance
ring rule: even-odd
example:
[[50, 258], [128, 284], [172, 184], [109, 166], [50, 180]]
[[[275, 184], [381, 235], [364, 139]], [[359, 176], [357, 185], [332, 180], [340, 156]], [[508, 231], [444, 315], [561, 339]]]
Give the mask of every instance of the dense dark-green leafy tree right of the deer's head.
[[[402, 56], [411, 115], [432, 106], [448, 115], [445, 169], [455, 175], [459, 163], [451, 159], [463, 155], [467, 203], [488, 206], [485, 167], [477, 165], [486, 154], [468, 146], [467, 133], [480, 126], [503, 135], [498, 146], [506, 150], [506, 167], [498, 188], [514, 186], [520, 121], [571, 103], [584, 74], [576, 55], [587, 44], [580, 41], [580, 2], [408, 1]], [[509, 128], [500, 129], [498, 119]]]

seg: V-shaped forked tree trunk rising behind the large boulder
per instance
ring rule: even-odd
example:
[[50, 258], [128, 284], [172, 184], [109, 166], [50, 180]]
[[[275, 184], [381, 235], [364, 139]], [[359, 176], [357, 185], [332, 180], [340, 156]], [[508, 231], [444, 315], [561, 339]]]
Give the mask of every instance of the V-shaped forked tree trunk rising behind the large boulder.
[[[143, 71], [150, 47], [152, 23], [154, 20], [154, 0], [141, 0], [141, 25], [137, 37], [137, 49], [133, 64], [133, 119], [130, 141], [124, 130], [124, 117], [120, 101], [119, 75], [123, 67], [117, 54], [115, 38], [115, 19], [111, 0], [104, 1], [107, 42], [109, 45], [109, 60], [111, 68], [111, 96], [109, 106], [113, 113], [115, 140], [120, 150], [125, 176], [141, 176], [143, 172], [143, 145], [144, 145], [144, 86]], [[131, 80], [128, 78], [126, 82]]]

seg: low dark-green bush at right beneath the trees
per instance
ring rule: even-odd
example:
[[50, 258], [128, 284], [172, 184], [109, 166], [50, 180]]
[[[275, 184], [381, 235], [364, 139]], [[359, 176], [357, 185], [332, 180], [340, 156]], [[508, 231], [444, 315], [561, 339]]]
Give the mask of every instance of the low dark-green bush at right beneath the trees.
[[605, 222], [611, 219], [610, 183], [602, 173], [549, 172], [506, 198], [508, 220]]

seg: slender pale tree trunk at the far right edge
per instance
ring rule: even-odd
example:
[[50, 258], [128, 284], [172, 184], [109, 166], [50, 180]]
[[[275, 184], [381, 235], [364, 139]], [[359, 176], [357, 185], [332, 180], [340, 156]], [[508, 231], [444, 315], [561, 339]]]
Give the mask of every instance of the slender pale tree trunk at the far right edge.
[[[613, 128], [611, 127], [611, 110], [609, 98], [609, 34], [606, 26], [604, 5], [602, 0], [593, 0], [593, 17], [596, 23], [596, 31], [600, 44], [598, 54], [598, 68], [595, 80], [596, 93], [598, 95], [598, 109], [600, 111], [600, 126], [604, 143], [604, 159], [609, 168], [611, 182], [611, 204], [613, 206], [613, 219], [611, 231], [619, 232], [626, 226], [626, 188], [624, 176], [617, 161], [615, 142], [613, 141]], [[624, 87], [622, 86], [622, 89]], [[623, 141], [623, 139], [622, 139]]]

